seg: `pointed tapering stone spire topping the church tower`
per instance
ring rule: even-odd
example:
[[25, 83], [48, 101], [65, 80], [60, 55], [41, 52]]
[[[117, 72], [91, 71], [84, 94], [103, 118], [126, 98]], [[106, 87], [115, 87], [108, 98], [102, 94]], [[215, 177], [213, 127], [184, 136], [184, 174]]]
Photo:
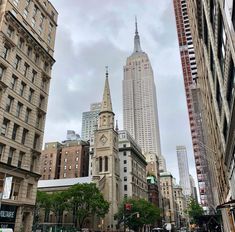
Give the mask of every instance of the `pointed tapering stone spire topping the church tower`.
[[108, 66], [105, 67], [106, 68], [106, 73], [105, 73], [105, 85], [104, 85], [104, 93], [103, 93], [103, 101], [101, 104], [101, 111], [100, 114], [102, 112], [112, 112], [113, 113], [113, 109], [112, 109], [112, 101], [111, 101], [111, 95], [110, 95], [110, 89], [109, 89], [109, 80], [108, 80]]

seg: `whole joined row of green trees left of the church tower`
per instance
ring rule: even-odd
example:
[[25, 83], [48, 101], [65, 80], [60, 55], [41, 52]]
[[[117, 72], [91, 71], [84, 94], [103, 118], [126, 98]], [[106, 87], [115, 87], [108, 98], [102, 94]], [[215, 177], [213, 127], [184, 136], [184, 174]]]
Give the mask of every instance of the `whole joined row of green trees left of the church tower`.
[[62, 222], [64, 210], [72, 212], [75, 226], [79, 228], [82, 228], [86, 218], [104, 217], [109, 211], [109, 203], [94, 183], [76, 184], [65, 191], [51, 194], [38, 191], [36, 205], [45, 213], [53, 212], [57, 223]]

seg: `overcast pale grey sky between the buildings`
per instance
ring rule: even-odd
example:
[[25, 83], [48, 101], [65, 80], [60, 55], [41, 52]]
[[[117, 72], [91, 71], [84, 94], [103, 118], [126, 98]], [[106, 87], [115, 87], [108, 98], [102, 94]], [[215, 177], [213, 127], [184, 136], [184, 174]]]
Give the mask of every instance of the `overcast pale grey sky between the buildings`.
[[178, 180], [176, 146], [185, 145], [195, 177], [172, 0], [51, 0], [59, 13], [44, 142], [81, 133], [82, 112], [102, 100], [105, 66], [122, 129], [122, 80], [133, 51], [134, 17], [157, 88], [162, 153]]

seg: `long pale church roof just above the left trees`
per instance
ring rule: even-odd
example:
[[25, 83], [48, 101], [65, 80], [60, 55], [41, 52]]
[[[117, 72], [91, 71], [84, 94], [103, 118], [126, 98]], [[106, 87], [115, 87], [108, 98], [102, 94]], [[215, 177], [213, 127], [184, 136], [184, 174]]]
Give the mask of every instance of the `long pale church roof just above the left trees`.
[[56, 180], [39, 180], [38, 188], [52, 188], [52, 187], [66, 187], [72, 186], [75, 184], [84, 184], [91, 183], [92, 178], [79, 177], [79, 178], [65, 178], [65, 179], [56, 179]]

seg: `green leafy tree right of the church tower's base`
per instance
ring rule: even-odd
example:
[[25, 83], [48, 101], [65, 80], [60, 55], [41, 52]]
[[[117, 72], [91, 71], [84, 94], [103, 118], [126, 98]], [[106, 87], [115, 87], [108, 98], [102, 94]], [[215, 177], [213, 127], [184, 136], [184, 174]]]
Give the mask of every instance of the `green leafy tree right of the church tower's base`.
[[[126, 203], [131, 204], [130, 212], [124, 209]], [[154, 225], [160, 219], [160, 209], [144, 199], [129, 198], [120, 205], [115, 218], [119, 224], [125, 222], [130, 229], [138, 231], [145, 224]], [[123, 220], [123, 218], [125, 219]]]

